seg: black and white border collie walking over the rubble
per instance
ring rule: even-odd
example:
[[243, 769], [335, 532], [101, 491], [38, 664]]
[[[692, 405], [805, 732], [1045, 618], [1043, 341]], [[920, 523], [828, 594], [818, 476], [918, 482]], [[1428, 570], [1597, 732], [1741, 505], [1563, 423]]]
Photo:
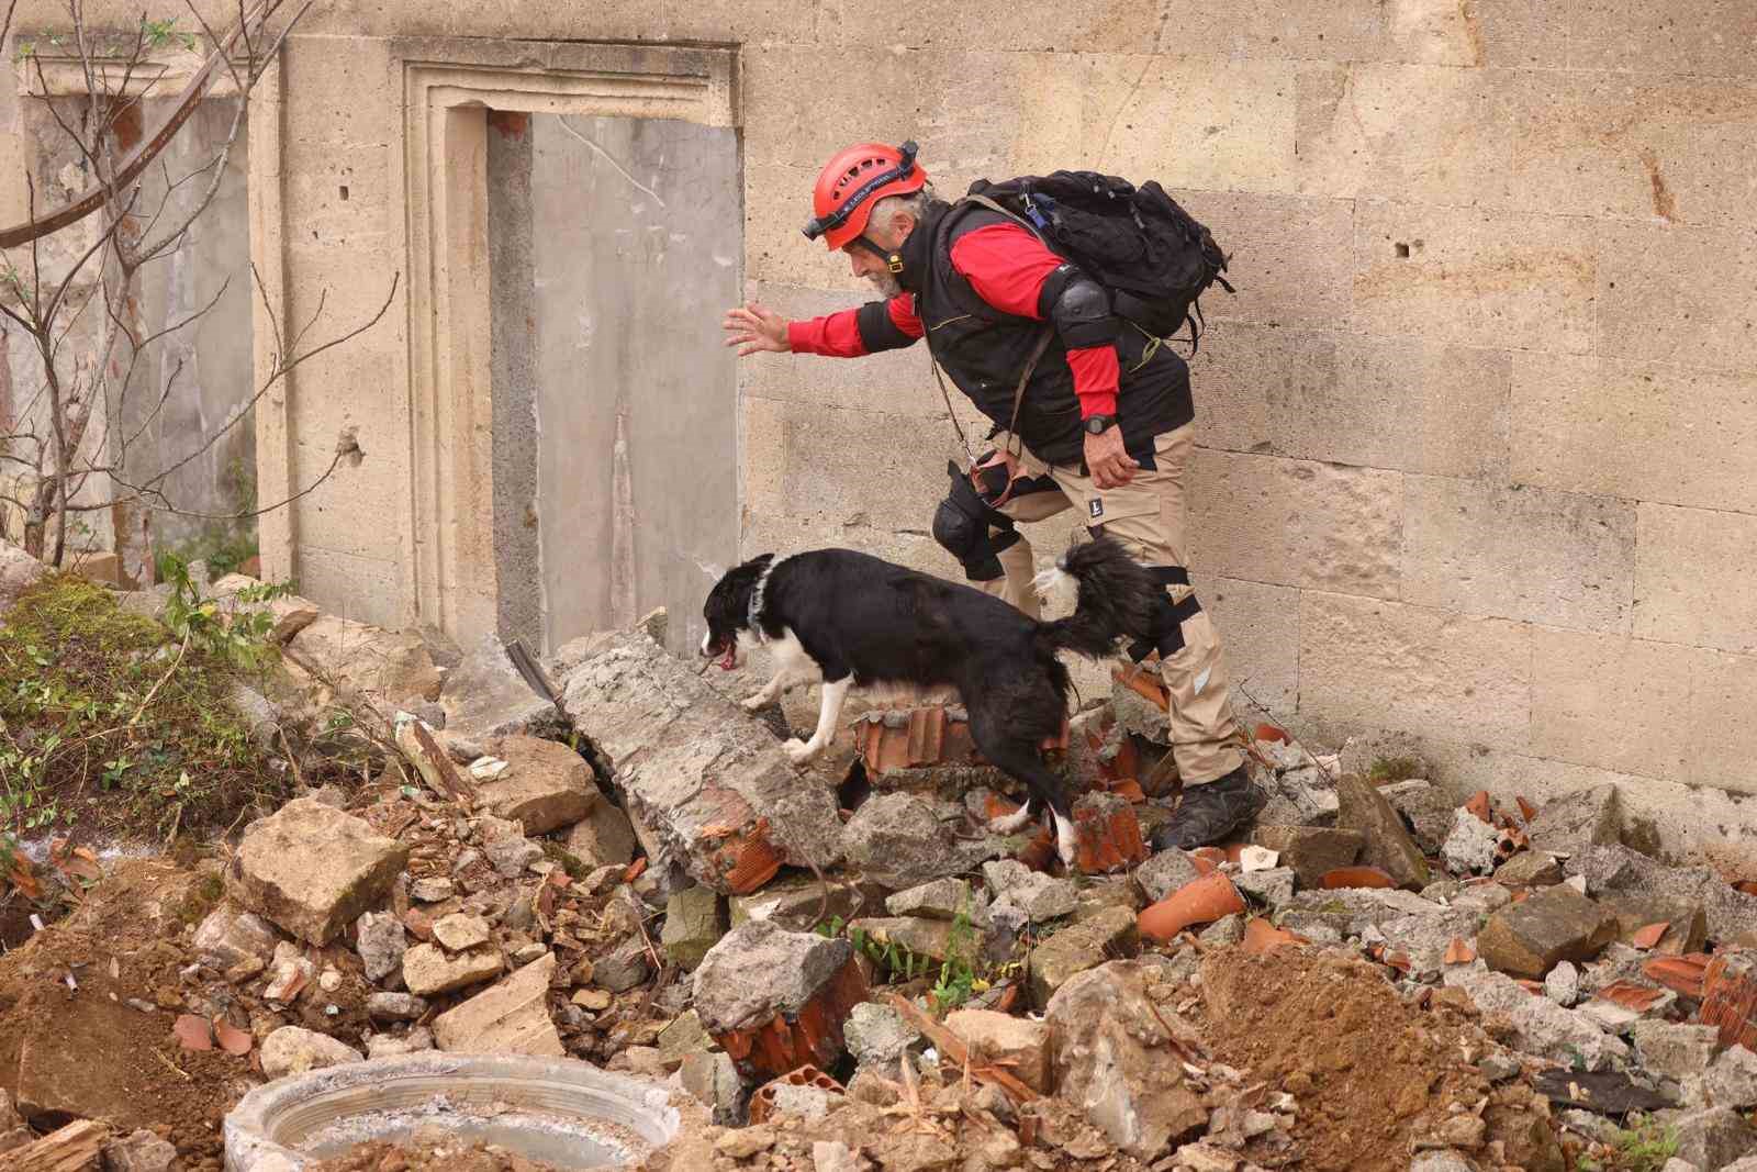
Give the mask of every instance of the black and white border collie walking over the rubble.
[[1110, 538], [1075, 545], [1035, 585], [1038, 594], [1074, 587], [1074, 613], [1040, 622], [973, 587], [852, 550], [782, 561], [764, 553], [727, 571], [708, 594], [701, 654], [731, 671], [756, 645], [770, 645], [775, 678], [743, 701], [750, 710], [792, 685], [822, 682], [812, 740], [784, 745], [796, 764], [835, 740], [852, 687], [958, 689], [977, 750], [1031, 794], [993, 829], [1012, 833], [1030, 821], [1033, 803], [1047, 807], [1061, 859], [1072, 865], [1068, 794], [1040, 756], [1040, 745], [1061, 733], [1072, 689], [1056, 654], [1102, 659], [1124, 636], [1149, 636], [1163, 590]]

